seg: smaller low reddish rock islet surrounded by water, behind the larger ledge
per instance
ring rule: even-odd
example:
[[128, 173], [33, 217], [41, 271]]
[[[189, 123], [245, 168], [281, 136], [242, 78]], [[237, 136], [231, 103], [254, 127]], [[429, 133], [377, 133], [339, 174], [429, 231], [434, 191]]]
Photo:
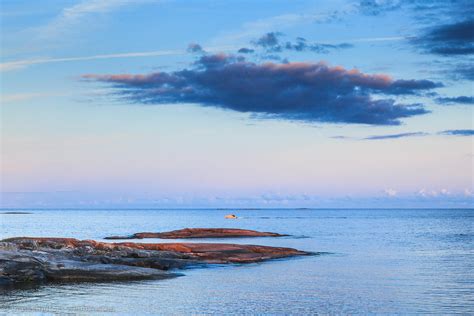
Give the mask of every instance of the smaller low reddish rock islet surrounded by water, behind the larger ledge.
[[160, 238], [160, 239], [185, 239], [185, 238], [236, 238], [236, 237], [282, 237], [281, 235], [271, 232], [259, 232], [248, 229], [237, 228], [185, 228], [162, 233], [136, 233], [130, 236], [110, 236], [105, 239], [143, 239], [143, 238]]

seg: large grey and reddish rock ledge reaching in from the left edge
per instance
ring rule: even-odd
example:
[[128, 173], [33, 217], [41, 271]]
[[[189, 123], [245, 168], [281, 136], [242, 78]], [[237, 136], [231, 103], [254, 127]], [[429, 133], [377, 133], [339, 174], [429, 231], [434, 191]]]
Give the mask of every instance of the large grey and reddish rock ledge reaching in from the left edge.
[[308, 255], [292, 248], [211, 243], [107, 243], [18, 237], [0, 242], [0, 288], [46, 282], [170, 278], [167, 270]]

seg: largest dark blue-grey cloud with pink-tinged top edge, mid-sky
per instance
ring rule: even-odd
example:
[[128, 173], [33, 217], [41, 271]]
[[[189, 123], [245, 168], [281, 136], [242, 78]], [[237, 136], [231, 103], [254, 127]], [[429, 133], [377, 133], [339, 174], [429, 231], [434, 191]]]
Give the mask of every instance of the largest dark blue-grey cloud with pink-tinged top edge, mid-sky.
[[439, 86], [325, 63], [257, 64], [224, 54], [202, 56], [175, 72], [83, 77], [112, 84], [138, 104], [194, 103], [262, 118], [372, 125], [399, 125], [400, 119], [428, 113], [421, 104], [399, 104], [390, 95]]

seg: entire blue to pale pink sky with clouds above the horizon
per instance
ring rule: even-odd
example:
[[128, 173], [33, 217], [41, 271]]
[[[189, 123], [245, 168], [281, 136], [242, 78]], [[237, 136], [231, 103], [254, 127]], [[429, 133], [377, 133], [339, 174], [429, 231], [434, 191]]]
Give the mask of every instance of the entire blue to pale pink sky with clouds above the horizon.
[[473, 207], [470, 0], [3, 0], [1, 208]]

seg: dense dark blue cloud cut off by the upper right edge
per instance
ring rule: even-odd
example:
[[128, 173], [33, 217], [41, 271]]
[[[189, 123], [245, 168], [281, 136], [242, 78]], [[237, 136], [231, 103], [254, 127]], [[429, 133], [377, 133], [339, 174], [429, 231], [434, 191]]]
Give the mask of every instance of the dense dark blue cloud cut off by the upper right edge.
[[474, 54], [474, 19], [436, 25], [414, 38], [412, 42], [431, 54], [443, 56]]

